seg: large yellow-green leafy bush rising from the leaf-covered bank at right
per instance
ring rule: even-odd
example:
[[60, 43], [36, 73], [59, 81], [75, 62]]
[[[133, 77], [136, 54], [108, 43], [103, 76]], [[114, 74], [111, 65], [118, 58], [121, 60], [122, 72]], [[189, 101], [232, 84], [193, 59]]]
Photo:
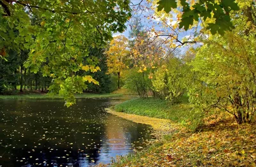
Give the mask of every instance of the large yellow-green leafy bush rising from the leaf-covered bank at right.
[[254, 37], [212, 36], [191, 62], [198, 73], [188, 87], [191, 102], [205, 112], [218, 108], [231, 113], [239, 124], [250, 122], [256, 105], [255, 45]]

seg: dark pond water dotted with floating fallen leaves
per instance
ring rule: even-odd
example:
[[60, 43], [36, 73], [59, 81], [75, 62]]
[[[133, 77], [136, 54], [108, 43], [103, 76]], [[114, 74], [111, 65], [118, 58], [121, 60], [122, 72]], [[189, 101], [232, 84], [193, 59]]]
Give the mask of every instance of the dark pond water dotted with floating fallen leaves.
[[145, 148], [151, 128], [104, 111], [108, 99], [0, 101], [0, 166], [92, 166]]

